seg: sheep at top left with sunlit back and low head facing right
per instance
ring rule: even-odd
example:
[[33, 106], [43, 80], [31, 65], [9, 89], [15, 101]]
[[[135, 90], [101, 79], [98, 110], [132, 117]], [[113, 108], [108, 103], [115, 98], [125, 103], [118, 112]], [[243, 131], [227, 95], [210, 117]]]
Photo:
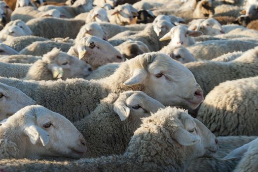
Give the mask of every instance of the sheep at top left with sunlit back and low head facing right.
[[65, 17], [61, 14], [60, 11], [56, 9], [51, 9], [48, 11], [38, 11], [32, 6], [20, 7], [14, 10], [11, 15], [11, 20], [22, 20], [23, 22], [28, 22], [31, 19], [40, 18], [40, 17]]

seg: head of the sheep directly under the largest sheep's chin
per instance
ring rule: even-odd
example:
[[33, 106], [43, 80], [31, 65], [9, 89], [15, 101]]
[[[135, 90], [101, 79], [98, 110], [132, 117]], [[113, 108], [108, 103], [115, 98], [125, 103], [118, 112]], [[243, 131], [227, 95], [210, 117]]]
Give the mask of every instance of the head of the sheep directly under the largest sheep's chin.
[[140, 118], [147, 117], [160, 108], [165, 106], [142, 91], [125, 91], [119, 94], [114, 102], [114, 112], [119, 115], [121, 121], [129, 118], [134, 121], [133, 124], [140, 123]]

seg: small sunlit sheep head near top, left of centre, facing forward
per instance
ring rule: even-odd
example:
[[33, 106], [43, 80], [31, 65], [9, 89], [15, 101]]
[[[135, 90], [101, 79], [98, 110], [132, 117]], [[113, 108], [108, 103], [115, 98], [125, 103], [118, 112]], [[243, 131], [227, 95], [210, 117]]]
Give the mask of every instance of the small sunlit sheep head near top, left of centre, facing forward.
[[87, 15], [86, 23], [90, 22], [110, 22], [108, 13], [103, 8], [95, 7]]

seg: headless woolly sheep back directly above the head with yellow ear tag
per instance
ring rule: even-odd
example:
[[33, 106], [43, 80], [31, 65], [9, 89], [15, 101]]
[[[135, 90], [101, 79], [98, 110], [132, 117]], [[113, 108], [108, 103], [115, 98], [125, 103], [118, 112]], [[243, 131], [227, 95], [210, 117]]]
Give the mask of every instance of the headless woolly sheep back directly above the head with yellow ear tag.
[[73, 45], [66, 42], [56, 42], [56, 41], [36, 41], [31, 45], [22, 49], [19, 54], [21, 55], [32, 55], [32, 56], [42, 56], [47, 52], [50, 52], [53, 48], [60, 48], [63, 52], [68, 52]]

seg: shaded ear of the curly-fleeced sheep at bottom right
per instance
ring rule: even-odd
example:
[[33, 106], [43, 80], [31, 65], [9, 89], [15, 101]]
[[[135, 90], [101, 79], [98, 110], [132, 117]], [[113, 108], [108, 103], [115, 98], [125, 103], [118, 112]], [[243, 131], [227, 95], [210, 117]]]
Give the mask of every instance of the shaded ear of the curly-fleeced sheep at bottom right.
[[172, 135], [172, 138], [176, 140], [179, 144], [184, 146], [194, 145], [201, 140], [200, 137], [190, 134], [183, 128], [175, 131]]

